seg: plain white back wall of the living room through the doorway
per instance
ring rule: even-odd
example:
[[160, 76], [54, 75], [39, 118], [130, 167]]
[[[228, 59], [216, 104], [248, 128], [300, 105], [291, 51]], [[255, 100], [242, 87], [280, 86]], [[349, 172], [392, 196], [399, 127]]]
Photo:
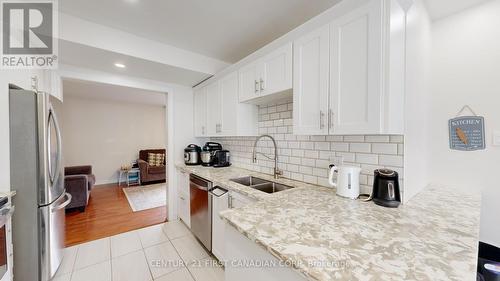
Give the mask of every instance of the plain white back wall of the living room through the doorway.
[[97, 184], [114, 183], [120, 166], [136, 160], [139, 150], [165, 148], [164, 105], [68, 94], [58, 116], [64, 166], [92, 165]]

